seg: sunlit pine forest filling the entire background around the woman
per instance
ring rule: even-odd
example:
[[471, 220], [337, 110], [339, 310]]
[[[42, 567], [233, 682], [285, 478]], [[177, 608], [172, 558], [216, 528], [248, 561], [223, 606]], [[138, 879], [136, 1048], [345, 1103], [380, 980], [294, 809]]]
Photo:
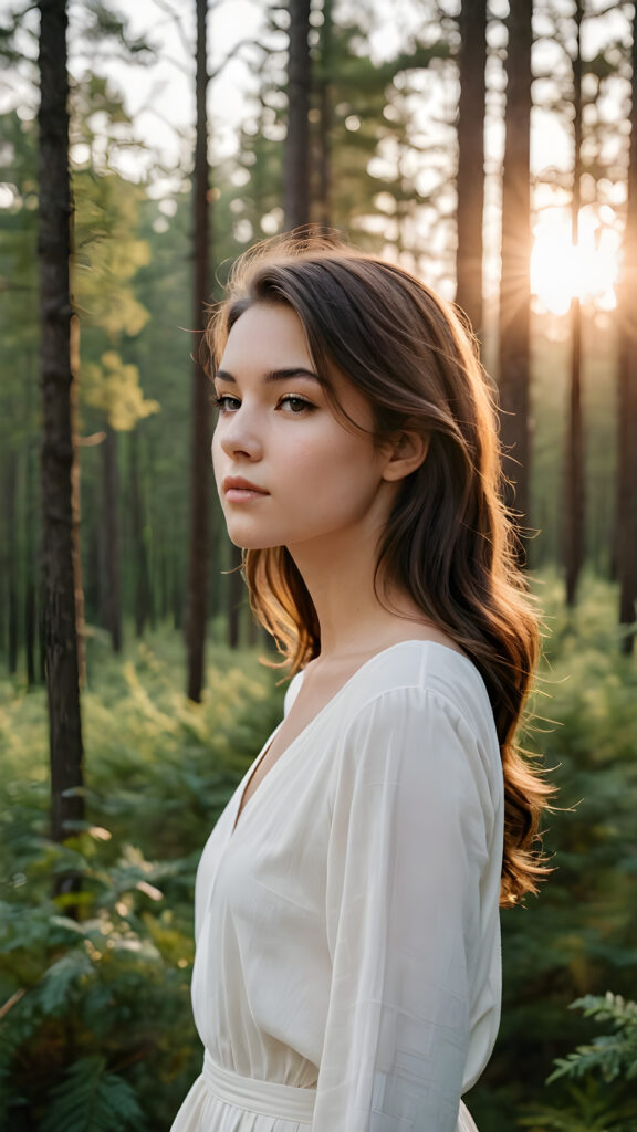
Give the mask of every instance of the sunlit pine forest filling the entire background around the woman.
[[198, 343], [311, 225], [473, 327], [543, 610], [552, 872], [467, 1105], [637, 1132], [637, 6], [0, 0], [0, 1126], [163, 1132], [199, 1072], [195, 871], [286, 684]]

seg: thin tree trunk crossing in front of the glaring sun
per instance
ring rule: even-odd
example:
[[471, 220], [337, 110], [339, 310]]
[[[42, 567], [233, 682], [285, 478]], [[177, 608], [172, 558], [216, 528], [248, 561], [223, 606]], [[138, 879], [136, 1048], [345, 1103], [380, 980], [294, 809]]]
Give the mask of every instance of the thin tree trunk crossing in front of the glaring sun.
[[[576, 6], [576, 53], [572, 62], [574, 88], [574, 185], [571, 229], [574, 247], [579, 245], [579, 208], [581, 186], [581, 19], [583, 0]], [[566, 453], [566, 491], [563, 521], [563, 560], [567, 606], [577, 599], [577, 585], [584, 563], [584, 421], [581, 413], [581, 307], [574, 295], [570, 307], [571, 358]]]

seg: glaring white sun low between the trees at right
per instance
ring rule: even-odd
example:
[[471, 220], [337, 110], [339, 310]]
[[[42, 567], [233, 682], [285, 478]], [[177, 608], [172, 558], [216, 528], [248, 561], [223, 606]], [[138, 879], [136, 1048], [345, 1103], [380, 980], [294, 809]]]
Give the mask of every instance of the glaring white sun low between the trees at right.
[[575, 297], [600, 310], [617, 307], [620, 233], [609, 205], [580, 209], [577, 247], [563, 207], [544, 208], [533, 235], [530, 290], [540, 311], [566, 315]]

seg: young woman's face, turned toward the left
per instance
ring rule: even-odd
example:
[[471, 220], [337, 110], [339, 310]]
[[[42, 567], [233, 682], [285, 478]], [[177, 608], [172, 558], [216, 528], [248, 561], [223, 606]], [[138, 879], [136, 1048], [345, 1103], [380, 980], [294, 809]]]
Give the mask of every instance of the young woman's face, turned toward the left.
[[[331, 408], [291, 308], [260, 303], [230, 331], [214, 385], [212, 441], [228, 533], [246, 549], [307, 547], [380, 534], [396, 484], [374, 447], [372, 411], [345, 378], [339, 404], [370, 432], [354, 431]], [[334, 550], [337, 549], [334, 541]]]

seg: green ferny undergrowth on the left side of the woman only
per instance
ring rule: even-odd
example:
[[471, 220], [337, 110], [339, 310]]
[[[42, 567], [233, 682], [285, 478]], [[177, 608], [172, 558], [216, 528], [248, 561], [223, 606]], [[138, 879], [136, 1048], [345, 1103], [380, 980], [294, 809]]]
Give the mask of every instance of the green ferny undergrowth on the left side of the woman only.
[[[124, 662], [88, 650], [88, 820], [46, 838], [43, 694], [0, 697], [0, 1124], [154, 1130], [199, 1072], [189, 983], [196, 865], [278, 720], [254, 654], [213, 651], [199, 705], [175, 687], [181, 642]], [[100, 660], [97, 659], [100, 658]], [[99, 679], [95, 680], [95, 670]], [[52, 894], [73, 874], [78, 891]], [[79, 919], [71, 918], [73, 908]]]

